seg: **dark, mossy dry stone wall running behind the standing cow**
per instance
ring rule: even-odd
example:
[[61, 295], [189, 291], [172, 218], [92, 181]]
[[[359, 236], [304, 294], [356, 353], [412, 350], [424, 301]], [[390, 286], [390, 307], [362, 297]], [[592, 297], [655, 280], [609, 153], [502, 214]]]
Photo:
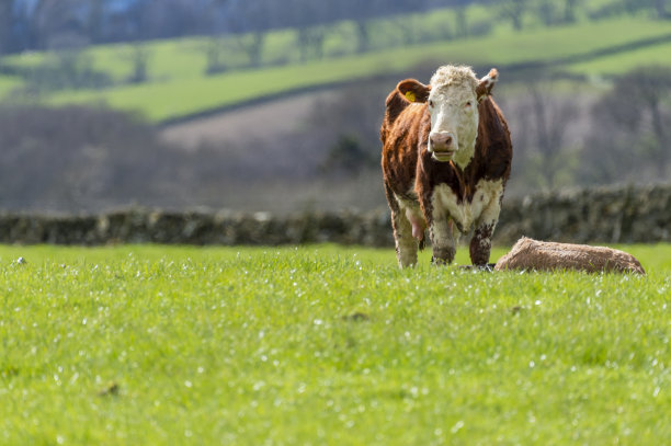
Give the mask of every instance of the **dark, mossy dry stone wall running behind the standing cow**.
[[[671, 241], [671, 185], [541, 193], [507, 199], [494, 235], [567, 242]], [[0, 214], [0, 243], [298, 244], [391, 247], [387, 209], [311, 213], [172, 213], [149, 209], [100, 216]]]

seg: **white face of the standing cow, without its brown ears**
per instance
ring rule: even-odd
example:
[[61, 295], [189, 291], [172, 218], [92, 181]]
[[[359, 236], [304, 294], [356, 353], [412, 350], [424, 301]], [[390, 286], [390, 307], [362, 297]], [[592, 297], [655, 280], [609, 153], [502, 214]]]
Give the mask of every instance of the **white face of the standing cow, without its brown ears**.
[[427, 102], [431, 114], [428, 146], [431, 157], [436, 161], [454, 160], [462, 169], [466, 168], [473, 159], [478, 136], [475, 85], [434, 87]]

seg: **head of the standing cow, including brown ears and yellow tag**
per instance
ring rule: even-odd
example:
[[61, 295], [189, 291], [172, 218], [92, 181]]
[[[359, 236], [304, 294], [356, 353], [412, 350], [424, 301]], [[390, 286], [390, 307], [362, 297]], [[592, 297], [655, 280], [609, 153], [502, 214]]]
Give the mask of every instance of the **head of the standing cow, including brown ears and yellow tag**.
[[487, 98], [498, 79], [498, 71], [478, 80], [469, 67], [445, 66], [424, 85], [406, 79], [398, 90], [410, 102], [427, 102], [431, 115], [428, 150], [436, 161], [454, 160], [466, 168], [478, 136], [478, 103]]

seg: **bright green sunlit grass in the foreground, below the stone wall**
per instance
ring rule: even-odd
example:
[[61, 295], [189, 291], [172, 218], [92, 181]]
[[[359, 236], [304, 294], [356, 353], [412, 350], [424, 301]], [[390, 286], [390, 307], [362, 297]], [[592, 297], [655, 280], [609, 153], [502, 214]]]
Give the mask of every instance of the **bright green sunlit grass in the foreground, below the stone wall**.
[[0, 444], [670, 444], [671, 245], [624, 249], [0, 247]]

